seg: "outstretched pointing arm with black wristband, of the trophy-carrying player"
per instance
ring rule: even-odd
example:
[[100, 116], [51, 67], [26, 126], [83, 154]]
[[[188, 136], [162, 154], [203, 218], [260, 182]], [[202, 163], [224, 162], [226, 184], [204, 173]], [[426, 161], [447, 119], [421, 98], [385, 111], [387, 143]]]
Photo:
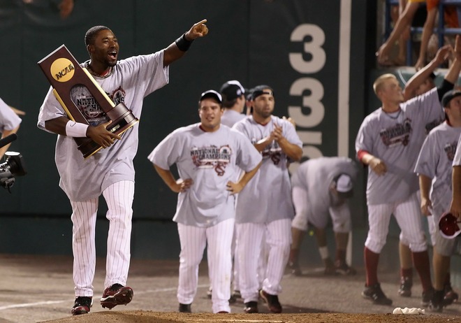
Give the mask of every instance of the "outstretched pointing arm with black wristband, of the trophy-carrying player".
[[184, 35], [177, 38], [174, 43], [166, 48], [163, 53], [163, 66], [168, 66], [177, 61], [177, 59], [183, 57], [196, 38], [200, 38], [208, 34], [208, 27], [205, 22], [207, 22], [206, 19], [193, 24], [189, 31], [186, 31]]

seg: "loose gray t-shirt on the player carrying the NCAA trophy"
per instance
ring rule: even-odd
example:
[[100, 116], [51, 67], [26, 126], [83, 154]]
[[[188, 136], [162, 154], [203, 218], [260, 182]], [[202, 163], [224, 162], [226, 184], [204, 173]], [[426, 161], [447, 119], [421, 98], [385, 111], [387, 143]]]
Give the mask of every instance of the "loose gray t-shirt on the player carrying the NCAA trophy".
[[[117, 62], [108, 78], [95, 77], [115, 105], [123, 102], [140, 119], [142, 101], [156, 89], [168, 84], [169, 68], [163, 67], [163, 50]], [[103, 110], [86, 88], [73, 91], [73, 102], [95, 123], [105, 120]], [[45, 121], [66, 116], [64, 108], [52, 94], [47, 93], [38, 115], [38, 127], [45, 129]], [[138, 150], [138, 124], [127, 130], [122, 140], [110, 148], [96, 152], [86, 160], [77, 149], [74, 139], [59, 136], [55, 161], [61, 180], [59, 186], [71, 201], [85, 201], [101, 195], [103, 190], [121, 180], [134, 181], [133, 158]]]

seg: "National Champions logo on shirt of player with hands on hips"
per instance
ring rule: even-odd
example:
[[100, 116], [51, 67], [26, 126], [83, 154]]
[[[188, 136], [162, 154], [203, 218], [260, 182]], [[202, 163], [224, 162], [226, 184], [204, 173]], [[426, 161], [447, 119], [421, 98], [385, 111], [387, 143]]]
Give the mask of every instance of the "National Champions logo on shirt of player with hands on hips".
[[232, 150], [228, 145], [217, 147], [194, 147], [191, 150], [193, 164], [198, 168], [214, 168], [219, 176], [226, 173], [226, 166], [231, 161]]

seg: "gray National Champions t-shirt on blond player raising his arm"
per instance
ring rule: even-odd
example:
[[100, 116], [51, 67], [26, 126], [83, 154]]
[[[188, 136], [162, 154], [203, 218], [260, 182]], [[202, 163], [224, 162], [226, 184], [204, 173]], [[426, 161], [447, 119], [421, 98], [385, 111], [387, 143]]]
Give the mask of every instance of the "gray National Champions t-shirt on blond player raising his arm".
[[368, 167], [367, 203], [370, 205], [406, 200], [418, 190], [414, 166], [426, 136], [426, 125], [444, 119], [437, 88], [400, 105], [395, 116], [381, 108], [363, 121], [356, 138], [356, 152], [366, 150], [383, 160], [387, 173], [376, 175]]

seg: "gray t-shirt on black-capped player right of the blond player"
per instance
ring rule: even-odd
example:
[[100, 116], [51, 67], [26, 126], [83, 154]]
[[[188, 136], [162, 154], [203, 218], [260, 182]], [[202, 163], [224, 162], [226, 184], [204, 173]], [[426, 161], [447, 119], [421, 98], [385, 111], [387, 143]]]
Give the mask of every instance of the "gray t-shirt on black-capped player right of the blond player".
[[440, 216], [450, 206], [451, 173], [461, 127], [451, 127], [446, 122], [430, 131], [416, 161], [415, 173], [432, 179], [430, 201], [432, 209]]

